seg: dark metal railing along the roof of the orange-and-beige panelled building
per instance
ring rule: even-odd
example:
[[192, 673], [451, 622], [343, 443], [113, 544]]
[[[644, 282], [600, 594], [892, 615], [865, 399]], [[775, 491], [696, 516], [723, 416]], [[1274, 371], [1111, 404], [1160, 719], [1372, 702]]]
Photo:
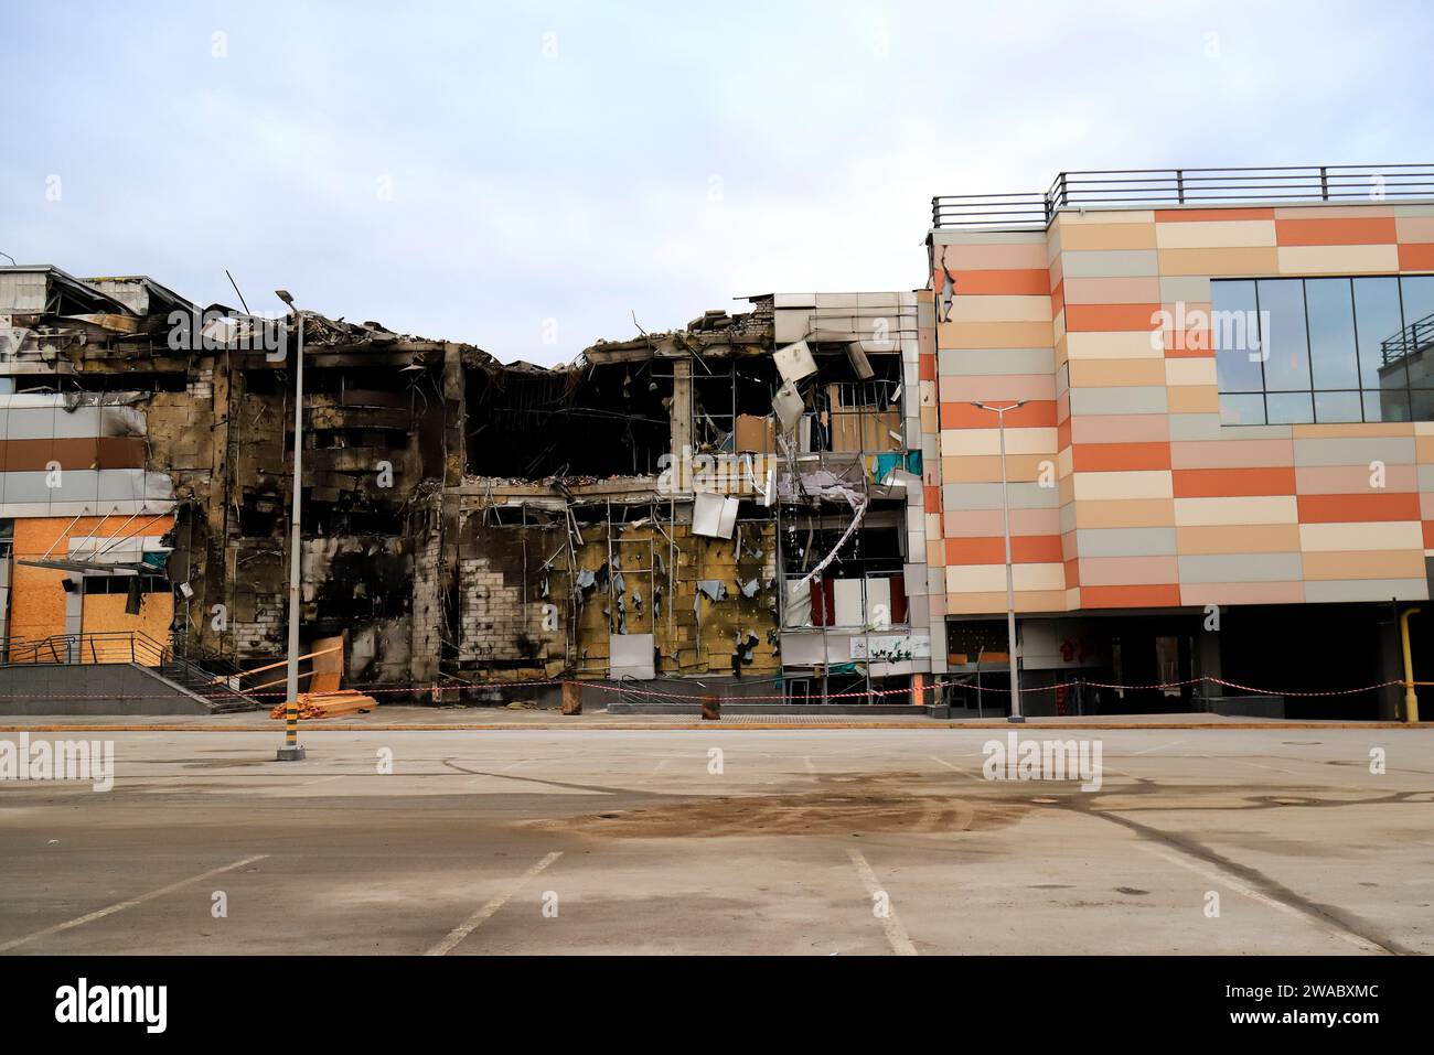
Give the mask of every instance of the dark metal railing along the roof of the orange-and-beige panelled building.
[[941, 228], [1044, 228], [1067, 208], [1434, 199], [1434, 165], [1285, 165], [1061, 172], [1045, 194], [941, 195]]

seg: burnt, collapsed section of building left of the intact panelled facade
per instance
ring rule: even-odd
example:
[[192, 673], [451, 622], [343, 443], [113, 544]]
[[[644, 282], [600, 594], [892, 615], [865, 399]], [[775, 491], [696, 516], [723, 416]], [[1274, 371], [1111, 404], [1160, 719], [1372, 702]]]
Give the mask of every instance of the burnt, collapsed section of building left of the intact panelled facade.
[[300, 324], [301, 642], [341, 638], [348, 685], [906, 702], [932, 671], [915, 294], [543, 368], [53, 267], [0, 268], [7, 661], [284, 655]]

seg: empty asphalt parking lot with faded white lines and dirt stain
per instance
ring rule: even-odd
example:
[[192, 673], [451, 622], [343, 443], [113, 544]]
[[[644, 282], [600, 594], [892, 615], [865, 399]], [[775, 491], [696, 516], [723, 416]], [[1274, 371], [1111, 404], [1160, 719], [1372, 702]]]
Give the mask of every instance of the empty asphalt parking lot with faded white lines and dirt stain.
[[29, 735], [115, 781], [0, 780], [3, 955], [1434, 952], [1427, 728]]

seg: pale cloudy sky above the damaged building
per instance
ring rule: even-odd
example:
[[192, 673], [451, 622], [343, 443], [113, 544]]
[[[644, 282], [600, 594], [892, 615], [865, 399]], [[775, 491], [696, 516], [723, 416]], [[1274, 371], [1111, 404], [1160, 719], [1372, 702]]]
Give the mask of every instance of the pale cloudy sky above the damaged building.
[[0, 251], [548, 364], [922, 285], [935, 194], [1434, 161], [1431, 56], [1392, 0], [0, 0]]

